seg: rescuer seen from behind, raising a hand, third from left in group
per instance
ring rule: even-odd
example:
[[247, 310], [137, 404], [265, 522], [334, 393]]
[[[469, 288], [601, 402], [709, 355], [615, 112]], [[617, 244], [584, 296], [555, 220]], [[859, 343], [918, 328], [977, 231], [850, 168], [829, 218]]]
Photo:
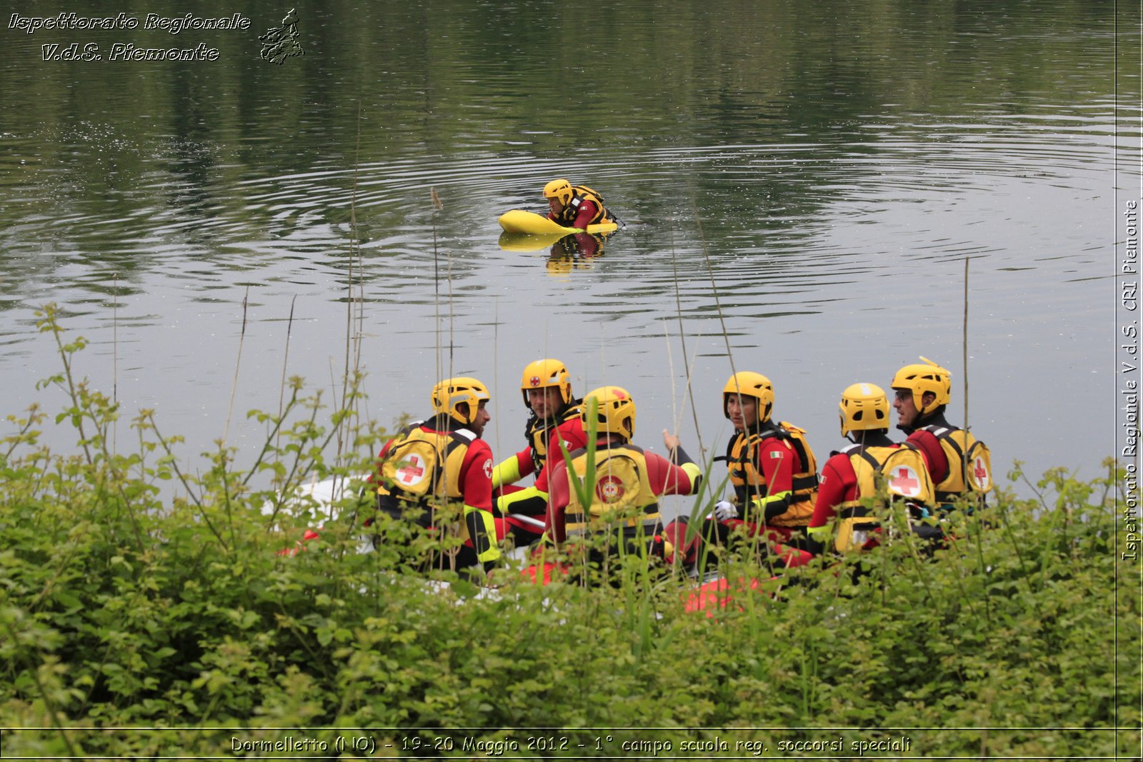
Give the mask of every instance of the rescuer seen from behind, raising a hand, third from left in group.
[[670, 459], [645, 452], [631, 443], [636, 428], [636, 403], [620, 386], [602, 386], [584, 396], [584, 430], [596, 416], [594, 478], [586, 484], [588, 505], [580, 494], [589, 471], [586, 448], [570, 454], [572, 471], [560, 460], [550, 478], [551, 507], [545, 536], [563, 543], [576, 537], [608, 538], [607, 551], [592, 548], [589, 559], [601, 563], [608, 554], [645, 552], [663, 556], [671, 552], [661, 536], [658, 498], [695, 495], [702, 471], [682, 449], [679, 438], [663, 432]]

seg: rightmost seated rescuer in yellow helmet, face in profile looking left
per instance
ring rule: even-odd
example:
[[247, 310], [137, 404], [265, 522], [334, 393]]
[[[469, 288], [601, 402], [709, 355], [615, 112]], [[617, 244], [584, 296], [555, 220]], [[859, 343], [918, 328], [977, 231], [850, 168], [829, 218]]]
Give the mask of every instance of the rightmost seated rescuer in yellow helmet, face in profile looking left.
[[945, 419], [952, 376], [932, 360], [921, 360], [893, 377], [897, 428], [925, 456], [943, 508], [954, 507], [958, 500], [983, 504], [992, 489], [992, 456], [986, 444]]

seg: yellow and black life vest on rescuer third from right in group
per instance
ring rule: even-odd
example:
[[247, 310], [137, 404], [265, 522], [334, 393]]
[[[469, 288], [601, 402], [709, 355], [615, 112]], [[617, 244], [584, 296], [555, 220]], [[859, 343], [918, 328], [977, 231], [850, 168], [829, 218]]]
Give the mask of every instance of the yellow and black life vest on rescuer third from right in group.
[[777, 436], [798, 457], [794, 468], [790, 507], [777, 516], [767, 520], [775, 527], [806, 527], [814, 514], [814, 499], [817, 497], [817, 459], [806, 441], [806, 430], [782, 420], [777, 428], [761, 433], [746, 434], [738, 432], [727, 446], [726, 466], [730, 475], [730, 484], [740, 506], [750, 510], [751, 503], [768, 492], [766, 479], [754, 467], [754, 454], [764, 440]]

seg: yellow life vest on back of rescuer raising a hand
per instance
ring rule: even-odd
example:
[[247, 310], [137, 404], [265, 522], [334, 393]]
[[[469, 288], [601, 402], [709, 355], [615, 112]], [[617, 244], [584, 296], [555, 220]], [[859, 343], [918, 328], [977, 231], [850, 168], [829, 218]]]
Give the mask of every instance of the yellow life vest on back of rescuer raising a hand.
[[633, 444], [613, 444], [596, 450], [596, 476], [591, 486], [591, 504], [585, 520], [580, 488], [588, 474], [588, 450], [572, 454], [572, 471], [567, 473], [569, 499], [565, 527], [569, 535], [598, 531], [609, 527], [648, 529], [660, 522], [658, 495], [647, 479], [647, 458]]

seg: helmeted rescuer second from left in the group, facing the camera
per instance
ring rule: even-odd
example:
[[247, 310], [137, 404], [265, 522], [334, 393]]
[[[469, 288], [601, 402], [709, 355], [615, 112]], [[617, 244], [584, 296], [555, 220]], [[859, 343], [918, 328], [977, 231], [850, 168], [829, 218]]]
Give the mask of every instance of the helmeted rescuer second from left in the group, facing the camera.
[[[530, 412], [523, 430], [528, 447], [493, 470], [496, 512], [534, 520], [505, 519], [517, 546], [529, 544], [543, 532], [552, 465], [562, 463], [565, 451], [588, 444], [582, 401], [572, 393], [572, 375], [562, 362], [552, 358], [529, 362], [520, 377], [520, 392]], [[513, 487], [527, 475], [536, 478], [535, 484]]]

